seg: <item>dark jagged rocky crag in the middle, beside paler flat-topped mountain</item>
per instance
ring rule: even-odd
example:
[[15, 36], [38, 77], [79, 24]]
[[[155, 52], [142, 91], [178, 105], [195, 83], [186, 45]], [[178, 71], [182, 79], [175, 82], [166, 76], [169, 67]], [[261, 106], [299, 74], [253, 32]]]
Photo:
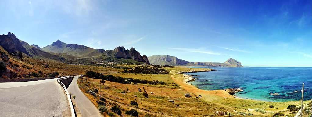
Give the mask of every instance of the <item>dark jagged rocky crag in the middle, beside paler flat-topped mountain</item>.
[[[138, 51], [136, 51], [133, 47], [130, 50], [126, 50], [124, 47], [116, 47], [113, 51], [115, 51], [115, 58], [124, 58], [124, 59], [132, 59], [138, 62], [144, 62], [146, 64], [150, 64], [148, 58], [145, 59], [140, 55]], [[107, 55], [110, 55], [114, 52], [110, 50], [107, 51]]]

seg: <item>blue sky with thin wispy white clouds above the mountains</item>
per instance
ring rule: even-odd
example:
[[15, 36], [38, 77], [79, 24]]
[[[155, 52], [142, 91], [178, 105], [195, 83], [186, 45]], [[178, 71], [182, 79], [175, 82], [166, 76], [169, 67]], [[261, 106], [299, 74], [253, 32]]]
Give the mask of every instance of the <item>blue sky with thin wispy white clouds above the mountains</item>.
[[0, 34], [253, 67], [312, 67], [311, 0], [0, 1]]

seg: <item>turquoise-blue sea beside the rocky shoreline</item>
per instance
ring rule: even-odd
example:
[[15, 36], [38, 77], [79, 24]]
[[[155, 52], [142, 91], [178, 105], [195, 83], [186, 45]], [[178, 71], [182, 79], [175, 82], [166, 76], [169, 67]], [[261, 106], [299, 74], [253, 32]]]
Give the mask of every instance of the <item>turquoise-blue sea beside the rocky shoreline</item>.
[[[200, 75], [193, 76], [198, 79], [191, 82], [199, 89], [244, 88], [243, 92], [238, 92], [235, 95], [260, 101], [300, 101], [302, 83], [305, 83], [304, 100], [311, 100], [312, 97], [312, 90], [309, 90], [312, 88], [312, 67], [202, 68], [212, 68], [217, 71], [186, 73]], [[295, 94], [295, 91], [298, 92]], [[269, 93], [279, 93], [280, 95], [270, 95]]]

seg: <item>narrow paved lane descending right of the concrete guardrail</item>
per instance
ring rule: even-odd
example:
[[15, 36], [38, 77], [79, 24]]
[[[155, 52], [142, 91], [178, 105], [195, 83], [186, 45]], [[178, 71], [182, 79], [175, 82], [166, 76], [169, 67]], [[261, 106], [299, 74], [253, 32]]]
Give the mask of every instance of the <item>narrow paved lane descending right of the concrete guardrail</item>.
[[78, 88], [77, 80], [79, 76], [75, 76], [67, 90], [71, 95], [75, 95], [75, 101], [80, 110], [82, 117], [101, 117], [99, 110]]

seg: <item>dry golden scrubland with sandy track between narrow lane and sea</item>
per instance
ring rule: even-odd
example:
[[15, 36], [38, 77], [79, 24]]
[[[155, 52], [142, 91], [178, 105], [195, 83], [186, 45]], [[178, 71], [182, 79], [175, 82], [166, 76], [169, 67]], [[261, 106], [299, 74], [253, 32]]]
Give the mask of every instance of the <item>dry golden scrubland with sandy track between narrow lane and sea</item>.
[[[136, 65], [129, 65], [136, 66]], [[128, 77], [128, 78], [137, 78], [137, 79], [146, 79], [146, 80], [158, 80], [163, 81], [169, 86], [166, 85], [149, 85], [149, 84], [121, 84], [113, 83], [106, 81], [101, 84], [101, 97], [106, 98], [106, 107], [108, 110], [114, 106], [119, 105], [122, 111], [122, 116], [129, 116], [124, 114], [126, 110], [135, 108], [139, 112], [139, 116], [225, 116], [226, 113], [238, 114], [237, 111], [243, 111], [248, 113], [247, 109], [261, 108], [266, 111], [271, 112], [281, 112], [288, 117], [294, 116], [291, 111], [288, 111], [286, 107], [288, 105], [301, 105], [300, 101], [289, 101], [289, 102], [267, 102], [263, 104], [264, 101], [255, 101], [255, 100], [245, 100], [237, 99], [232, 96], [224, 93], [222, 90], [215, 91], [205, 91], [197, 89], [192, 85], [183, 83], [183, 75], [178, 74], [177, 72], [181, 71], [192, 71], [192, 70], [207, 70], [202, 68], [185, 68], [185, 67], [174, 67], [174, 68], [164, 68], [171, 70], [169, 74], [129, 74], [129, 73], [113, 73], [111, 75]], [[105, 74], [107, 75], [107, 74]], [[88, 84], [86, 85], [86, 79]], [[78, 84], [82, 92], [85, 93], [86, 90], [100, 89], [100, 79], [84, 78], [79, 79]], [[178, 84], [178, 86], [172, 86], [172, 84]], [[144, 88], [143, 88], [144, 87]], [[128, 88], [128, 91], [126, 91]], [[142, 89], [139, 92], [138, 88]], [[144, 89], [149, 94], [149, 98], [144, 97]], [[124, 93], [125, 92], [125, 93]], [[154, 94], [150, 94], [153, 92]], [[190, 93], [192, 97], [184, 97], [185, 93]], [[99, 93], [97, 96], [92, 96], [90, 93], [85, 93], [85, 95], [95, 104], [96, 107], [99, 98]], [[136, 95], [137, 97], [133, 97]], [[202, 95], [202, 98], [196, 97]], [[169, 102], [173, 100], [174, 102]], [[131, 106], [130, 101], [136, 101], [139, 106]], [[308, 104], [310, 101], [304, 101], [304, 104]], [[258, 104], [254, 106], [248, 106]], [[229, 109], [195, 109], [195, 108], [228, 108], [228, 107], [238, 107], [239, 108], [229, 108]], [[269, 106], [274, 106], [274, 108], [269, 108]], [[218, 111], [219, 114], [216, 113]], [[102, 113], [105, 116], [108, 116], [107, 113], [112, 113], [107, 111]], [[267, 116], [271, 117], [274, 113], [266, 112], [261, 114], [260, 112], [253, 111], [251, 112], [252, 116]], [[118, 116], [118, 115], [117, 115]], [[243, 116], [243, 115], [235, 115]], [[306, 117], [307, 114], [304, 114]]]

